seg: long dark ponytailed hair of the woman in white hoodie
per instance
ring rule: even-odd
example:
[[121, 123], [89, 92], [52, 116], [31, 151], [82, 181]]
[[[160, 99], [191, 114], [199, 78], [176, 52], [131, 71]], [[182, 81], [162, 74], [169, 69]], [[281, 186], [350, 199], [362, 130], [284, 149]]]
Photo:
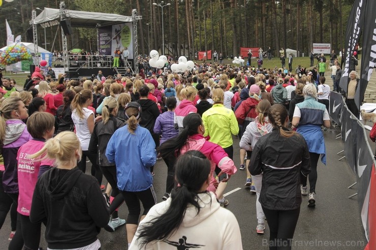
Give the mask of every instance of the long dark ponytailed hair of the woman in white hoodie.
[[140, 238], [142, 245], [168, 238], [179, 228], [184, 219], [185, 209], [189, 204], [196, 207], [197, 214], [200, 213], [197, 194], [208, 180], [209, 173], [210, 161], [200, 151], [188, 151], [177, 159], [175, 178], [179, 187], [172, 190], [171, 204], [167, 211], [140, 227], [136, 236]]

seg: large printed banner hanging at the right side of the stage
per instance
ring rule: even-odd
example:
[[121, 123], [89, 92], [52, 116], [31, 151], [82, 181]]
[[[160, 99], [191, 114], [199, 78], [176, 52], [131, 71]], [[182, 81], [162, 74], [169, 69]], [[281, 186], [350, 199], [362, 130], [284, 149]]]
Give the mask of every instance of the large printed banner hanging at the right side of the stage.
[[118, 48], [129, 51], [128, 59], [133, 59], [133, 35], [132, 23], [120, 23], [112, 26], [105, 26], [98, 29], [99, 53], [100, 55], [114, 55]]

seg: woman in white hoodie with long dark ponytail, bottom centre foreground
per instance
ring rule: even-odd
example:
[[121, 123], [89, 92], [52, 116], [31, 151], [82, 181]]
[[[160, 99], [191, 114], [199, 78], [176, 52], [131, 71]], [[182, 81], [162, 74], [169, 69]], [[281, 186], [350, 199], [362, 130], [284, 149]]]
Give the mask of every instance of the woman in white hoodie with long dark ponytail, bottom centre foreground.
[[209, 160], [188, 151], [178, 158], [175, 171], [177, 187], [149, 210], [129, 249], [243, 249], [235, 216], [206, 191]]

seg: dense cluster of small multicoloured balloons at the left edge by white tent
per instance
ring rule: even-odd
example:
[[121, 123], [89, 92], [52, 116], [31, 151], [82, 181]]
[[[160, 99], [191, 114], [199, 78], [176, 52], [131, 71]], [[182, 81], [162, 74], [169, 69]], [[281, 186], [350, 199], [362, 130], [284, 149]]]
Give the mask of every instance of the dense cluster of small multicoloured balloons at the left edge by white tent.
[[0, 64], [10, 65], [23, 60], [32, 60], [32, 53], [25, 46], [8, 46], [0, 54]]

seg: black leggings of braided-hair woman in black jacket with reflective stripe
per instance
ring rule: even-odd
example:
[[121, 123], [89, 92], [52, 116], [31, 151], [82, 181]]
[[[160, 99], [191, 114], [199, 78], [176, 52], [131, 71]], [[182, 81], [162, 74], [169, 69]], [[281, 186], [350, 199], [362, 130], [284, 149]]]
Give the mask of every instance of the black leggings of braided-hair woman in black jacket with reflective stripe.
[[269, 210], [262, 206], [268, 220], [269, 250], [290, 250], [300, 207], [294, 210]]

